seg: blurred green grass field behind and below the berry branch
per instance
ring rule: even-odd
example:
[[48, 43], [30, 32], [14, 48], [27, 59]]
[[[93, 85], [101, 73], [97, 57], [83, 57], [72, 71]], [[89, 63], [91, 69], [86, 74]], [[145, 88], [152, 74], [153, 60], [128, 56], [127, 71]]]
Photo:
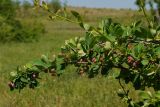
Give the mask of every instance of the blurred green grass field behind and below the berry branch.
[[[141, 15], [131, 10], [71, 8], [79, 11], [84, 19], [95, 24], [100, 19], [112, 17], [115, 21], [129, 24]], [[28, 19], [31, 20], [31, 19]], [[42, 54], [57, 54], [66, 39], [85, 33], [75, 24], [52, 22], [46, 17], [37, 19], [44, 23], [47, 33], [39, 42], [0, 44], [0, 107], [125, 107], [116, 95], [119, 89], [112, 77], [88, 79], [74, 73], [68, 67], [57, 78], [41, 74], [41, 84], [35, 90], [24, 89], [11, 92], [7, 85], [9, 72]]]

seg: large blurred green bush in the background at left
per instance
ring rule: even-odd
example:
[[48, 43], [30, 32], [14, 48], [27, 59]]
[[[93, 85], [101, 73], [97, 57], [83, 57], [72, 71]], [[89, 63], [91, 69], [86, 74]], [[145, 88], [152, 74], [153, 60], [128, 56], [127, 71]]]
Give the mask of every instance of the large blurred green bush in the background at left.
[[[20, 4], [18, 0], [0, 1], [0, 43], [37, 41], [40, 35], [45, 32], [42, 23], [36, 20], [26, 23], [26, 19], [20, 20], [17, 17], [18, 14], [22, 15], [19, 10], [26, 10], [29, 7], [31, 4], [27, 1], [23, 4]], [[21, 12], [27, 15], [25, 11]]]

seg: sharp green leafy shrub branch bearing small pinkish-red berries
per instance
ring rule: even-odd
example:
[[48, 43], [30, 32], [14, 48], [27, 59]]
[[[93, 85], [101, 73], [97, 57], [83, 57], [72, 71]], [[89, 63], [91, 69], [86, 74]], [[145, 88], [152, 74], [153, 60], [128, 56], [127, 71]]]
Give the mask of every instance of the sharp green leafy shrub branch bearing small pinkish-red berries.
[[[98, 27], [84, 23], [75, 11], [71, 13], [76, 20], [63, 17], [62, 13], [52, 15], [45, 2], [39, 5], [38, 0], [35, 0], [35, 5], [47, 10], [51, 19], [79, 24], [86, 35], [66, 40], [58, 56], [51, 58], [43, 55], [39, 60], [18, 66], [16, 71], [10, 73], [8, 85], [11, 90], [20, 91], [26, 86], [35, 88], [39, 84], [41, 72], [60, 76], [67, 66], [73, 65], [79, 75], [89, 78], [97, 75], [106, 77], [110, 72], [118, 72], [115, 79], [121, 89], [117, 95], [128, 107], [160, 106], [160, 26], [148, 18], [144, 5], [140, 6], [148, 26], [144, 26], [141, 21], [125, 26], [106, 19]], [[116, 71], [113, 70], [115, 68]], [[139, 99], [134, 100], [130, 96], [131, 90], [125, 87], [128, 83], [140, 92]]]

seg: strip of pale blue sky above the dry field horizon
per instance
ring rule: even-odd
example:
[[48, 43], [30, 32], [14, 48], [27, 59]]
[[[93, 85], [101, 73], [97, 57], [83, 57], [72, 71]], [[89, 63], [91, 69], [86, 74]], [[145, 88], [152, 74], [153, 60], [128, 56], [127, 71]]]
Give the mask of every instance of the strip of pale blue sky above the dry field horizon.
[[[32, 1], [32, 0], [30, 0]], [[49, 1], [49, 0], [46, 0]], [[65, 1], [65, 0], [61, 0]], [[135, 0], [67, 0], [68, 5], [96, 8], [131, 8], [136, 9]]]

